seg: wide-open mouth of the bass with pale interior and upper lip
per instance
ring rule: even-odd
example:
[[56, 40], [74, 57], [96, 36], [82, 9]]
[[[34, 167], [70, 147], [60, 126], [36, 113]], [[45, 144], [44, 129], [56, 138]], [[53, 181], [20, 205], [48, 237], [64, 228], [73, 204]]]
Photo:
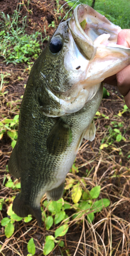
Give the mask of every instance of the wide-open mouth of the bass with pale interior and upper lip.
[[[75, 44], [81, 53], [91, 60], [96, 54], [98, 44], [109, 45], [109, 41], [116, 43], [121, 28], [112, 24], [105, 16], [88, 5], [79, 5], [69, 20], [69, 28]], [[107, 40], [106, 40], [107, 39]]]

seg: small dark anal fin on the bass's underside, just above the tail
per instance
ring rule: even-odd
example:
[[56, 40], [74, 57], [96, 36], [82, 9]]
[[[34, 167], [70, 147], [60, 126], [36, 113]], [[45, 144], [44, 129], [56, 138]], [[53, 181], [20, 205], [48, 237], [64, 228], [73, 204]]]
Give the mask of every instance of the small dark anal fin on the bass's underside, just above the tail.
[[59, 187], [52, 190], [46, 191], [46, 197], [48, 200], [57, 201], [63, 196], [65, 182], [63, 182]]

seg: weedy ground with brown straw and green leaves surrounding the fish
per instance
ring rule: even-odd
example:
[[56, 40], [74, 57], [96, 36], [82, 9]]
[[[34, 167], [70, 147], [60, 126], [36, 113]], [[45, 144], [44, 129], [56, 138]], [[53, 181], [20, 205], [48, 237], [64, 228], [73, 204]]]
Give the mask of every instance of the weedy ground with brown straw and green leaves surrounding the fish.
[[[67, 1], [68, 2], [68, 1]], [[85, 0], [80, 1], [86, 3]], [[32, 217], [20, 218], [12, 203], [20, 181], [8, 172], [15, 146], [20, 102], [34, 62], [59, 22], [71, 15], [75, 2], [7, 1], [0, 13], [0, 252], [5, 255], [114, 255], [130, 254], [130, 118], [117, 89], [105, 86], [95, 115], [96, 138], [83, 140], [67, 175], [59, 201], [41, 200], [42, 226]], [[65, 4], [62, 8], [62, 5]], [[87, 4], [92, 5], [88, 0]], [[69, 5], [69, 7], [68, 7]], [[127, 1], [96, 0], [94, 8], [111, 22], [129, 28]], [[72, 10], [71, 10], [72, 12]]]

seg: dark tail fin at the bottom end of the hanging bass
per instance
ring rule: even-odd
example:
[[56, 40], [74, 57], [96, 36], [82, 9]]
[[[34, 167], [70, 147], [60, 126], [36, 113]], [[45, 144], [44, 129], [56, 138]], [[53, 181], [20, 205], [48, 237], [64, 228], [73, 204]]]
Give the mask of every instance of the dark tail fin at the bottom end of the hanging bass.
[[34, 208], [26, 204], [24, 200], [22, 200], [21, 193], [15, 197], [12, 209], [15, 214], [21, 218], [27, 217], [29, 214], [33, 215], [36, 218], [38, 225], [41, 226], [40, 205], [39, 208]]

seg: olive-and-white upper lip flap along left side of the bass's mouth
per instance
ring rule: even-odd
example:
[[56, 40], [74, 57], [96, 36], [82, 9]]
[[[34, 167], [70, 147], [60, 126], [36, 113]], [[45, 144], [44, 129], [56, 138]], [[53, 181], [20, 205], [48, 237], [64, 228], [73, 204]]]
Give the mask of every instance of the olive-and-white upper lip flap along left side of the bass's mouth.
[[[84, 32], [80, 25], [80, 18], [84, 16], [87, 5], [78, 5], [73, 12], [72, 17], [69, 19], [68, 27], [75, 41], [75, 44], [85, 58], [91, 60], [96, 54], [96, 47], [92, 39]], [[82, 15], [81, 15], [82, 14]]]

